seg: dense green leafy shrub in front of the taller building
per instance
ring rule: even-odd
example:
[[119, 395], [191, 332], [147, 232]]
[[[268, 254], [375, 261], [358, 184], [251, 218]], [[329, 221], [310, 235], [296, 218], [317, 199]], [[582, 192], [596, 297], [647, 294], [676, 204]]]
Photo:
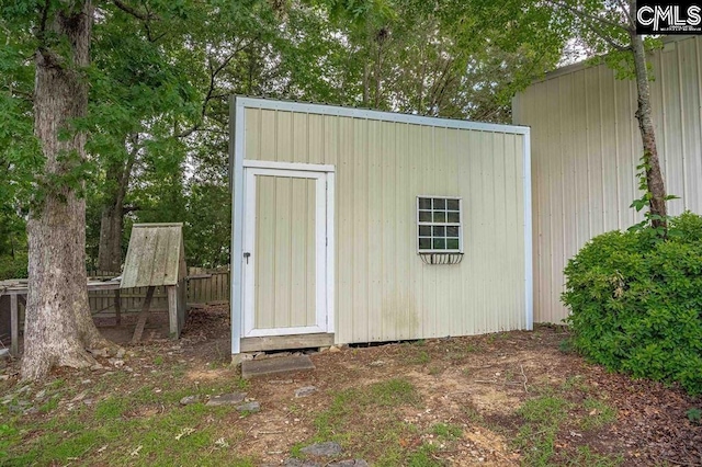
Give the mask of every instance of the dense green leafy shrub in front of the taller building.
[[702, 394], [702, 217], [593, 238], [565, 269], [575, 349], [607, 368]]

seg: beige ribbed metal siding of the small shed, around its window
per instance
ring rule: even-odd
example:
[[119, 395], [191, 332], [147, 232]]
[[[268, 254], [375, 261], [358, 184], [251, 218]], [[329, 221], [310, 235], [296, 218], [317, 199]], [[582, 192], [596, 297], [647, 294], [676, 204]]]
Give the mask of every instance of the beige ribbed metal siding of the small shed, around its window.
[[[337, 341], [523, 329], [522, 135], [247, 109], [245, 158], [336, 166]], [[463, 197], [465, 257], [416, 251], [416, 196]]]

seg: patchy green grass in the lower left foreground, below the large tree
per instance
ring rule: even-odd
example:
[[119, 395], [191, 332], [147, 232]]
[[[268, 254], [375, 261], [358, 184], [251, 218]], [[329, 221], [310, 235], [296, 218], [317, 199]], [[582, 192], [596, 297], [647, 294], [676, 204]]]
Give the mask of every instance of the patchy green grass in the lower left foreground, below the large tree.
[[[125, 383], [124, 377], [104, 375], [107, 381], [95, 385], [92, 397], [102, 397], [87, 405], [86, 397], [73, 403], [71, 410], [59, 410], [76, 391], [61, 389], [63, 383], [49, 383], [46, 390], [56, 391], [41, 406], [39, 413], [48, 417], [27, 423], [26, 415], [11, 413], [2, 407], [0, 415], [8, 423], [0, 428], [0, 465], [233, 465], [253, 466], [256, 459], [237, 456], [216, 442], [226, 420], [238, 419], [234, 408], [210, 408], [203, 403], [180, 407], [178, 400], [193, 394], [192, 387], [156, 389], [154, 385], [136, 387], [135, 390], [112, 395], [95, 392], [95, 388], [113, 383]], [[166, 383], [166, 381], [161, 381]], [[197, 392], [217, 392], [226, 386], [229, 391], [237, 386], [231, 379], [226, 385], [217, 381], [201, 386]], [[53, 414], [53, 417], [52, 417]], [[235, 436], [229, 436], [234, 442]], [[224, 444], [227, 443], [226, 440]]]

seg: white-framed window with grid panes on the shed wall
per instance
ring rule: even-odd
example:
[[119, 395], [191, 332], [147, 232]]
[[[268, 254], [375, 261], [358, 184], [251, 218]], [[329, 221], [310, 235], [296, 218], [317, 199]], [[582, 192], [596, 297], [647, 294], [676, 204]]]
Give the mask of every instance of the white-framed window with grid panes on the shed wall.
[[461, 198], [417, 197], [418, 251], [420, 253], [463, 252]]

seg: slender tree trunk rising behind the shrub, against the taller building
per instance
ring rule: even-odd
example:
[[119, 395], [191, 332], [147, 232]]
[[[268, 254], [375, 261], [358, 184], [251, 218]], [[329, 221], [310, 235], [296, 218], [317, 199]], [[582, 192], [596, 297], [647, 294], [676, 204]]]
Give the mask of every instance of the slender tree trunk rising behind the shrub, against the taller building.
[[[631, 3], [632, 11], [635, 14], [635, 2]], [[633, 16], [632, 16], [633, 18]], [[650, 87], [648, 82], [648, 68], [646, 66], [646, 52], [644, 49], [644, 39], [636, 34], [636, 31], [630, 29], [630, 38], [632, 42], [632, 50], [634, 53], [634, 67], [636, 70], [636, 88], [638, 91], [638, 109], [636, 110], [636, 118], [638, 119], [638, 129], [641, 130], [641, 139], [644, 146], [644, 164], [646, 166], [646, 184], [650, 193], [648, 206], [652, 215], [660, 216], [654, 218], [652, 225], [654, 228], [668, 228], [666, 221], [666, 185], [660, 173], [660, 161], [658, 160], [658, 149], [656, 148], [656, 135], [654, 130], [654, 121], [650, 111]]]

